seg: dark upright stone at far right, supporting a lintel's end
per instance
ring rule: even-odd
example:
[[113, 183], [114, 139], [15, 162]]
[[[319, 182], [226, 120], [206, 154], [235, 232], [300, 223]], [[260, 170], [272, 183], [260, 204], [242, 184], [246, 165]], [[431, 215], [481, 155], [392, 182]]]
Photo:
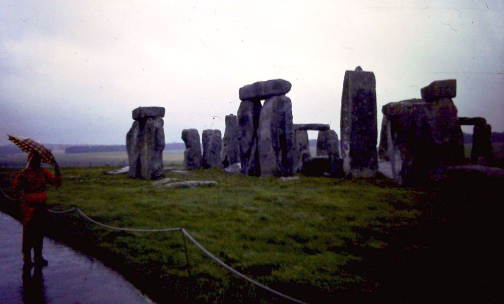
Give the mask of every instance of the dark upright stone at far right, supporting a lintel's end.
[[[483, 158], [483, 159], [481, 159]], [[473, 131], [471, 162], [491, 164], [493, 161], [492, 127], [489, 124], [477, 124]]]

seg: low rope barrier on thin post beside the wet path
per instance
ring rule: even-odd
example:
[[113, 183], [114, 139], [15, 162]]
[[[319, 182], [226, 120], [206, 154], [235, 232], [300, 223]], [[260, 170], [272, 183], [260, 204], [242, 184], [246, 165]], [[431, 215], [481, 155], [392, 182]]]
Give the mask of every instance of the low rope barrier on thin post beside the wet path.
[[[2, 191], [2, 194], [8, 198], [9, 200], [12, 200], [12, 201], [19, 201], [20, 199], [13, 199], [11, 197], [9, 197], [5, 192], [4, 190], [2, 190], [2, 188], [0, 188], [0, 191]], [[223, 261], [221, 261], [219, 258], [217, 258], [216, 256], [214, 256], [212, 253], [210, 253], [205, 247], [203, 247], [200, 243], [198, 243], [198, 241], [196, 241], [193, 236], [191, 236], [185, 229], [183, 229], [182, 227], [177, 227], [177, 228], [168, 228], [168, 229], [129, 229], [129, 228], [121, 228], [121, 227], [114, 227], [114, 226], [110, 226], [110, 225], [107, 225], [107, 224], [104, 224], [104, 223], [101, 223], [99, 221], [96, 221], [94, 219], [92, 219], [91, 217], [89, 217], [86, 213], [84, 213], [81, 209], [79, 208], [73, 208], [73, 209], [69, 209], [69, 210], [64, 210], [64, 211], [55, 211], [55, 210], [51, 210], [49, 209], [48, 210], [49, 212], [51, 213], [55, 213], [55, 214], [69, 214], [69, 213], [73, 213], [73, 212], [78, 212], [82, 217], [84, 217], [85, 219], [87, 219], [88, 221], [96, 224], [96, 225], [99, 225], [99, 226], [102, 226], [102, 227], [105, 227], [105, 228], [108, 228], [108, 229], [112, 229], [112, 230], [117, 230], [117, 231], [127, 231], [127, 232], [141, 232], [141, 233], [155, 233], [155, 232], [174, 232], [174, 231], [181, 231], [183, 236], [187, 237], [188, 240], [190, 240], [194, 245], [196, 245], [196, 247], [198, 247], [198, 249], [200, 249], [204, 254], [206, 254], [209, 258], [211, 258], [212, 260], [214, 260], [217, 264], [221, 265], [222, 267], [226, 268], [227, 270], [229, 270], [230, 272], [236, 274], [237, 276], [241, 277], [242, 279], [246, 280], [247, 282], [251, 283], [251, 284], [254, 284], [260, 288], [263, 288], [267, 291], [270, 291], [271, 293], [277, 295], [277, 296], [280, 296], [280, 297], [283, 297], [283, 298], [286, 298], [290, 301], [293, 301], [293, 302], [296, 302], [296, 303], [303, 303], [305, 304], [306, 302], [303, 302], [301, 300], [298, 300], [296, 298], [293, 298], [291, 296], [288, 296], [284, 293], [281, 293], [280, 291], [277, 291], [275, 289], [272, 289], [264, 284], [261, 284], [259, 283], [258, 281], [255, 281], [249, 277], [247, 277], [246, 275], [244, 275], [243, 273], [239, 272], [238, 270], [232, 268], [231, 266], [227, 265], [226, 263], [224, 263]], [[184, 239], [184, 247], [185, 247], [185, 239]], [[187, 259], [187, 267], [188, 267], [188, 271], [190, 271], [190, 266], [189, 266], [189, 259], [188, 259], [188, 256], [187, 256], [187, 248], [185, 247], [185, 257]]]

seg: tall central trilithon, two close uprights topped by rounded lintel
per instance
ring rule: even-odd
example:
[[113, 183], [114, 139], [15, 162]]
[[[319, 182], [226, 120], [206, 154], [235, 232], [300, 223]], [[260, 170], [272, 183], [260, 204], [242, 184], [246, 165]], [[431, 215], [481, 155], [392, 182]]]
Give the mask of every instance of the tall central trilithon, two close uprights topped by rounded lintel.
[[[238, 141], [242, 173], [248, 176], [293, 174], [292, 85], [276, 79], [239, 90]], [[261, 100], [265, 100], [264, 105]]]

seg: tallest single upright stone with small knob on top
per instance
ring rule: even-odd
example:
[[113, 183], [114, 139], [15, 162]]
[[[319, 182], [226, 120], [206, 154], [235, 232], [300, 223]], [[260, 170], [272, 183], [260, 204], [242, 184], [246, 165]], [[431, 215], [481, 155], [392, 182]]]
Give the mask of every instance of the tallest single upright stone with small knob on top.
[[341, 156], [347, 176], [372, 177], [378, 169], [374, 73], [347, 70], [341, 97]]

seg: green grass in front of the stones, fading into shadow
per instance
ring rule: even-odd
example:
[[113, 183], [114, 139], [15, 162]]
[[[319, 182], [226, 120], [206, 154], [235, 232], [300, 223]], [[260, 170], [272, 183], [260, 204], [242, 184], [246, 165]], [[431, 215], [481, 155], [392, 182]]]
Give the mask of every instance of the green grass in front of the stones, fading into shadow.
[[[92, 218], [119, 227], [184, 227], [225, 263], [299, 296], [302, 290], [331, 294], [365, 280], [345, 267], [359, 263], [361, 250], [385, 248], [388, 239], [381, 232], [414, 220], [418, 211], [412, 206], [425, 195], [386, 180], [300, 176], [282, 181], [219, 169], [191, 171], [195, 175], [191, 177], [168, 172], [166, 177], [179, 180], [218, 182], [211, 188], [171, 189], [125, 175], [103, 175], [109, 170], [64, 169], [64, 185], [48, 192], [49, 202], [55, 209], [77, 205]], [[81, 241], [75, 235], [67, 236], [67, 241], [77, 247], [86, 243], [103, 259], [125, 263], [130, 270], [123, 273], [133, 282], [135, 275], [174, 285], [191, 281], [192, 294], [209, 301], [222, 300], [229, 292], [241, 293], [235, 296], [248, 301], [247, 296], [259, 292], [192, 244], [187, 245], [192, 271], [187, 278], [180, 233], [117, 233], [83, 223], [77, 216], [73, 220], [66, 224], [78, 226], [74, 233], [82, 229], [86, 233]]]

